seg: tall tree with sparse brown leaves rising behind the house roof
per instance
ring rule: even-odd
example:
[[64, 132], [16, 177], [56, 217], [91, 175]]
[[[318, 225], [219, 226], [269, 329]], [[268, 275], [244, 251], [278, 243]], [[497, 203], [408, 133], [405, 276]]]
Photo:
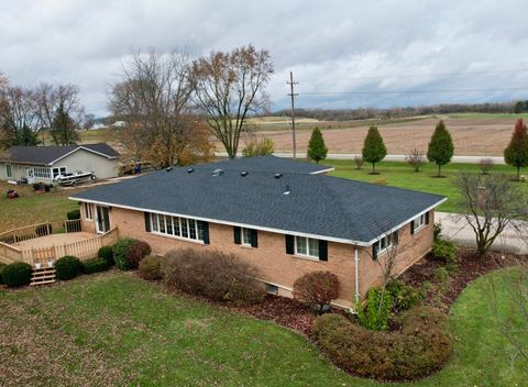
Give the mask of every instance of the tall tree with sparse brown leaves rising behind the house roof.
[[193, 64], [194, 99], [211, 133], [235, 158], [249, 113], [270, 106], [265, 87], [273, 74], [270, 53], [243, 46], [230, 53], [212, 52]]

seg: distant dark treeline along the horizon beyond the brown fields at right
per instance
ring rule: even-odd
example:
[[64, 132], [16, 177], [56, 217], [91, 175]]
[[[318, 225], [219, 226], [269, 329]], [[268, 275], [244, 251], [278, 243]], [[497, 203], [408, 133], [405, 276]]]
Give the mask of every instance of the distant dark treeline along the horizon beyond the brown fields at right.
[[[497, 103], [444, 103], [429, 107], [407, 108], [358, 108], [358, 109], [295, 109], [297, 117], [317, 119], [321, 121], [349, 121], [367, 119], [395, 119], [428, 114], [452, 113], [521, 113], [528, 112], [527, 101], [512, 101]], [[284, 109], [273, 112], [271, 115], [289, 117], [290, 110]]]

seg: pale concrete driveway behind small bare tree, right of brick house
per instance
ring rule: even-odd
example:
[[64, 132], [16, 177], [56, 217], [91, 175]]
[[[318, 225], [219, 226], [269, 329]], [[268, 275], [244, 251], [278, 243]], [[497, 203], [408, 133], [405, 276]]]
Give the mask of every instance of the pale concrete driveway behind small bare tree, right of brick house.
[[[474, 247], [475, 234], [463, 215], [457, 213], [436, 212], [435, 221], [442, 224], [442, 236], [462, 246]], [[492, 250], [498, 252], [510, 252], [528, 254], [528, 222], [517, 222], [521, 232], [515, 226], [508, 225], [497, 236]]]

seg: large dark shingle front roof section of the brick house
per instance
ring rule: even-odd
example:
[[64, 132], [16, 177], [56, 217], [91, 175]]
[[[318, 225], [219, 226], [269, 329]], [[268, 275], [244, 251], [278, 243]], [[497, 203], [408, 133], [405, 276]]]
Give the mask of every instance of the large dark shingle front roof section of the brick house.
[[217, 166], [198, 166], [190, 174], [158, 170], [73, 198], [363, 244], [444, 199], [323, 175], [283, 173], [277, 179], [270, 172], [243, 177], [226, 169], [212, 176]]

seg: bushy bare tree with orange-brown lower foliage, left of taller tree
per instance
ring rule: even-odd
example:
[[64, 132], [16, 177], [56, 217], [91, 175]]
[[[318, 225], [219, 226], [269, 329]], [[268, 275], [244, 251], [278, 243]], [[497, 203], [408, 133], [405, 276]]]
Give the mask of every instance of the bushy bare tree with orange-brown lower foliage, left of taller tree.
[[122, 80], [113, 86], [110, 104], [116, 118], [128, 123], [122, 140], [136, 156], [161, 167], [210, 157], [209, 139], [190, 100], [190, 73], [185, 51], [136, 52], [123, 65]]

